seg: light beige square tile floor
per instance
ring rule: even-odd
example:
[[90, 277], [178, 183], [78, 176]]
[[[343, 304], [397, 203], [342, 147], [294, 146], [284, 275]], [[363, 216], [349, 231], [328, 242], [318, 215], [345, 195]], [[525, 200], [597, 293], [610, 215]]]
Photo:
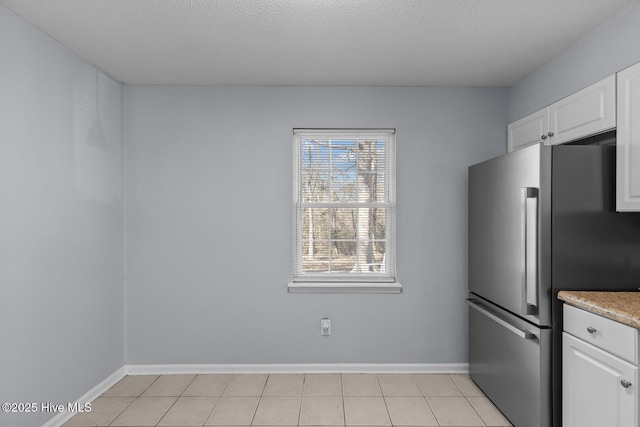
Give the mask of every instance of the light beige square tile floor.
[[511, 426], [468, 375], [127, 376], [65, 426]]

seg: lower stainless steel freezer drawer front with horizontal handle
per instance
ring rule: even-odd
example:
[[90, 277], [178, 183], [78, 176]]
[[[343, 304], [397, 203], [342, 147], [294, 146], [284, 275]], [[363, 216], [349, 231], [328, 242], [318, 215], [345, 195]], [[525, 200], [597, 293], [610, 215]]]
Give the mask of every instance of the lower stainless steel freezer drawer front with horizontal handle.
[[514, 426], [551, 426], [551, 330], [469, 300], [469, 374]]

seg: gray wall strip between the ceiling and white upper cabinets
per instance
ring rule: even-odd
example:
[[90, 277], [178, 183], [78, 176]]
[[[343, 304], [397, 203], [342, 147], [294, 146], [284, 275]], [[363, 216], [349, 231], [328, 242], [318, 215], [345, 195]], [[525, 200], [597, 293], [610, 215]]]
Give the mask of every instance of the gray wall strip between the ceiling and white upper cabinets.
[[640, 62], [640, 5], [591, 32], [511, 87], [509, 122]]

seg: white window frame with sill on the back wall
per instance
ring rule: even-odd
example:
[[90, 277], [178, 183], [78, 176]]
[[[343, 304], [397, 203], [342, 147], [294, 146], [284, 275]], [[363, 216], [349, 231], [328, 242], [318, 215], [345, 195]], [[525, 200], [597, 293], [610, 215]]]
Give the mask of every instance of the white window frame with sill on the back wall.
[[[384, 201], [375, 203], [326, 202], [314, 204], [302, 200], [302, 141], [309, 139], [385, 141]], [[395, 129], [294, 129], [293, 130], [293, 281], [289, 292], [376, 292], [399, 293], [402, 285], [396, 280], [396, 191], [395, 191]], [[383, 207], [386, 210], [384, 263], [379, 272], [305, 273], [302, 271], [302, 209], [305, 207]]]

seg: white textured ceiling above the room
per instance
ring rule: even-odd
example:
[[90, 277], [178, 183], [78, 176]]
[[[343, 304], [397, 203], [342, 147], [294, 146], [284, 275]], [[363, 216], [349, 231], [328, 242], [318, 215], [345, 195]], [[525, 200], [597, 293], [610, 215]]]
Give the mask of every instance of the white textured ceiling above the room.
[[508, 86], [640, 0], [0, 0], [132, 84]]

